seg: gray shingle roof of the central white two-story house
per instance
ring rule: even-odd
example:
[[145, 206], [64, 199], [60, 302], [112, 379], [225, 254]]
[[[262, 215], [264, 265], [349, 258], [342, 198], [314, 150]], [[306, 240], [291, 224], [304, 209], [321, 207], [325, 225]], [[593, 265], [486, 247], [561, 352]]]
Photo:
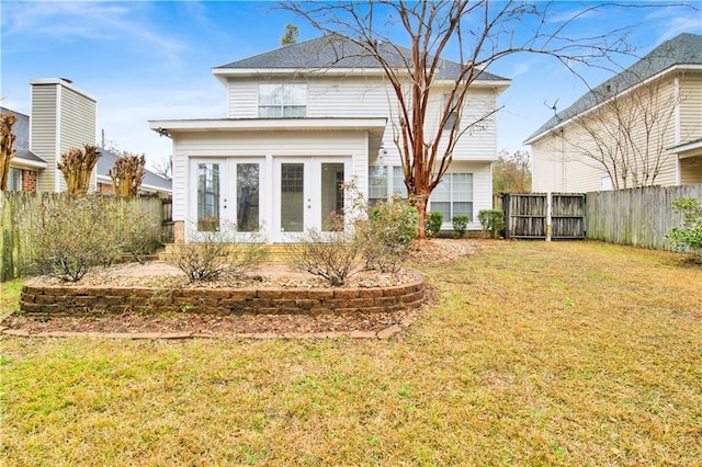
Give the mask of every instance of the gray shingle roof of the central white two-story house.
[[[378, 50], [392, 67], [406, 67], [411, 62], [411, 52], [406, 47], [387, 42], [378, 43]], [[276, 48], [264, 54], [216, 67], [217, 69], [327, 69], [327, 68], [380, 68], [377, 60], [363, 47], [339, 34], [329, 34], [314, 39]], [[455, 79], [461, 66], [455, 61], [443, 60], [440, 78]], [[487, 71], [480, 72], [480, 80], [507, 81]]]

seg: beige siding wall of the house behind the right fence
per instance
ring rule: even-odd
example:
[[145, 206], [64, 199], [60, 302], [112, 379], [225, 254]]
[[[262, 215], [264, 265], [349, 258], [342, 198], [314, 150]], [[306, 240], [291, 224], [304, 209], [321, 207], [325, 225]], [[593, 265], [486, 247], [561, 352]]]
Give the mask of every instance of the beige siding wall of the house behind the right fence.
[[[616, 174], [620, 187], [675, 185], [676, 83], [657, 80], [567, 122], [532, 145], [534, 192], [588, 192], [602, 189], [602, 178]], [[686, 111], [687, 112], [687, 111]], [[618, 121], [631, 132], [620, 133]], [[619, 148], [622, 152], [612, 156]], [[618, 160], [614, 167], [612, 158]], [[624, 161], [624, 162], [623, 162]], [[624, 176], [626, 173], [626, 181]], [[646, 175], [648, 176], [646, 179]], [[614, 178], [614, 176], [612, 176]]]

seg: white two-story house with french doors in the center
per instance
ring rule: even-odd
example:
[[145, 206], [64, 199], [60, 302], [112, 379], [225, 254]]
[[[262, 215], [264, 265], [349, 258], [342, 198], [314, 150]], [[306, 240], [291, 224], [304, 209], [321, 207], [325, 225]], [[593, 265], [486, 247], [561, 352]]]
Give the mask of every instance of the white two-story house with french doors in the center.
[[[378, 48], [398, 69], [410, 56], [387, 43]], [[435, 130], [457, 69], [444, 60], [427, 132]], [[393, 139], [396, 98], [375, 59], [350, 41], [324, 36], [216, 67], [213, 75], [227, 89], [226, 118], [149, 122], [173, 140], [177, 239], [228, 220], [238, 230], [261, 229], [270, 241], [295, 241], [351, 207], [344, 186], [371, 203], [407, 196]], [[495, 110], [509, 83], [483, 72], [466, 96], [466, 123]], [[492, 205], [497, 152], [492, 114], [462, 137], [431, 196], [429, 209], [444, 213], [444, 228], [452, 216], [467, 214], [469, 229], [479, 229], [478, 210]]]

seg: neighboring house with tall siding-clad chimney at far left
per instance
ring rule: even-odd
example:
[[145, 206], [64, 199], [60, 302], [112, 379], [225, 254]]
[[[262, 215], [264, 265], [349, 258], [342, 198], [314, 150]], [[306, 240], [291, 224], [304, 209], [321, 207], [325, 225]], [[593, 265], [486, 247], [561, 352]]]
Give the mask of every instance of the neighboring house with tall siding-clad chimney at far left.
[[[60, 192], [66, 190], [64, 174], [57, 163], [70, 148], [83, 148], [95, 139], [97, 100], [65, 78], [31, 80], [32, 116], [10, 109], [18, 119], [12, 127], [15, 153], [10, 163], [9, 191]], [[98, 159], [91, 191], [112, 192], [107, 171], [116, 156], [104, 149]], [[103, 187], [107, 185], [109, 189]], [[100, 186], [99, 186], [100, 185]], [[141, 192], [170, 196], [170, 181], [147, 171]]]

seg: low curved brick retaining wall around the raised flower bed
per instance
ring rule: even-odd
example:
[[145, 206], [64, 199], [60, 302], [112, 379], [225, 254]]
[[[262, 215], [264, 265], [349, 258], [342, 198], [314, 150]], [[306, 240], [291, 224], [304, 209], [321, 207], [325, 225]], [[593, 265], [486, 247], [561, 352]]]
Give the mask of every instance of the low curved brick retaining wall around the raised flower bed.
[[374, 288], [154, 288], [29, 283], [20, 309], [29, 316], [188, 311], [212, 315], [390, 312], [424, 301], [419, 275], [409, 284]]

